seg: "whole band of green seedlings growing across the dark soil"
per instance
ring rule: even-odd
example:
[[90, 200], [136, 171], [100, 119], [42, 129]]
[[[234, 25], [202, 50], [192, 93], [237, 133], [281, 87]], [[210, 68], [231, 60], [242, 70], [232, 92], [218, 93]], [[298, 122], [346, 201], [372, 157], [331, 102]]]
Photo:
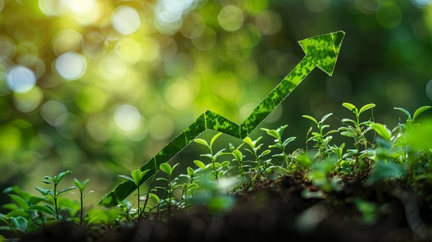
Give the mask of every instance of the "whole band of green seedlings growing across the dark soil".
[[[375, 104], [359, 109], [348, 102], [343, 106], [354, 118], [343, 118], [338, 129], [330, 129], [326, 124], [332, 113], [321, 120], [303, 115], [314, 127], [307, 132], [305, 147], [291, 151], [287, 147], [296, 137], [285, 137], [287, 125], [261, 129], [273, 140], [270, 145], [261, 142], [263, 136], [246, 137], [240, 145], [229, 143], [218, 150], [215, 142], [222, 133], [210, 140], [195, 138], [206, 153], [190, 162], [192, 165], [186, 171], [178, 171], [179, 163], [165, 162], [146, 187], [141, 184], [149, 170], [136, 169], [130, 176], [120, 175], [136, 185], [136, 198], [122, 201], [116, 207], [84, 204], [85, 196], [91, 192], [86, 190], [89, 179], [74, 179], [73, 185], [60, 189], [62, 179], [71, 171], [44, 177], [41, 182], [48, 188], [35, 187], [41, 196], [33, 196], [18, 186], [8, 187], [3, 191], [10, 197], [10, 203], [1, 205], [5, 213], [0, 214], [0, 241], [13, 241], [57, 221], [72, 221], [89, 230], [101, 230], [102, 226], [116, 227], [143, 218], [167, 218], [173, 210], [188, 210], [196, 205], [205, 204], [219, 212], [235, 205], [231, 194], [248, 191], [254, 183], [280, 176], [309, 180], [320, 190], [305, 190], [303, 196], [314, 198], [325, 198], [328, 192], [342, 190], [346, 178], [357, 178], [366, 186], [395, 179], [412, 186], [432, 179], [432, 144], [426, 138], [431, 137], [432, 124], [416, 122], [431, 106], [422, 106], [412, 115], [406, 109], [395, 108], [404, 113], [406, 120], [391, 130], [370, 118], [362, 121], [362, 114]], [[332, 144], [332, 137], [338, 133], [352, 140], [350, 149], [345, 148], [345, 143]], [[74, 192], [79, 200], [61, 196], [65, 192]], [[357, 200], [356, 204], [365, 213], [364, 220], [373, 221], [373, 216], [363, 209], [366, 201]]]

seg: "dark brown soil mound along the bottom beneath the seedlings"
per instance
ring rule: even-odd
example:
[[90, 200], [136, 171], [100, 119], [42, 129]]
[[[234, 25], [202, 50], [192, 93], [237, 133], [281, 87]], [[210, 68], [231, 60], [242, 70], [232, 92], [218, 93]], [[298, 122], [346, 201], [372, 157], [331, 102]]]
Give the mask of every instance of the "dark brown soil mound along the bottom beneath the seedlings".
[[[305, 198], [304, 191], [319, 192], [318, 187], [283, 176], [235, 194], [236, 205], [219, 214], [195, 207], [163, 219], [100, 230], [58, 222], [19, 241], [432, 241], [432, 185], [402, 184], [387, 181], [365, 187], [351, 178], [341, 192]], [[375, 222], [366, 222], [356, 198], [379, 207], [373, 213]]]

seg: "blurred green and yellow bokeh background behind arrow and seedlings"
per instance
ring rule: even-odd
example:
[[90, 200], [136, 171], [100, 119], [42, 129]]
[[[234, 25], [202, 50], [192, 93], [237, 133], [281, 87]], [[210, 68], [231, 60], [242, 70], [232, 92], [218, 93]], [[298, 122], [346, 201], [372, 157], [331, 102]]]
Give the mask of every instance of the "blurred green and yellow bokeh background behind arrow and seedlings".
[[334, 113], [336, 129], [352, 118], [343, 102], [373, 102], [392, 128], [405, 118], [395, 106], [431, 104], [431, 3], [0, 1], [0, 188], [37, 194], [38, 180], [69, 169], [62, 183], [90, 178], [98, 201], [207, 109], [242, 122], [303, 58], [298, 40], [338, 30], [334, 75], [314, 70], [260, 127], [288, 124], [290, 149], [304, 147], [301, 115]]

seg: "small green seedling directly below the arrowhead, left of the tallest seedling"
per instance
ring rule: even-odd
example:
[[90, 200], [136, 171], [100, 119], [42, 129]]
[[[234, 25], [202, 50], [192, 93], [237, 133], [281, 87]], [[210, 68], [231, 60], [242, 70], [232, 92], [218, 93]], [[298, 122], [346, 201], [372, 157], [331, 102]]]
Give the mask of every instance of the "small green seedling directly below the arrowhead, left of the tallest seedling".
[[[324, 121], [327, 120], [327, 118], [329, 118], [332, 114], [333, 113], [328, 113], [324, 115], [319, 122], [312, 116], [302, 115], [303, 118], [312, 120], [312, 122], [316, 124], [318, 132], [312, 132], [311, 133], [312, 137], [306, 140], [306, 144], [309, 141], [315, 142], [314, 147], [318, 149], [318, 153], [316, 153], [316, 157], [318, 157], [320, 160], [323, 160], [323, 158], [329, 157], [332, 154], [333, 147], [330, 145], [330, 141], [332, 141], [332, 136], [330, 136], [330, 134], [339, 132], [338, 130], [334, 130], [334, 129], [324, 132], [325, 129], [330, 127], [330, 125], [324, 124]], [[312, 127], [309, 129], [309, 131], [312, 131]], [[308, 136], [309, 136], [309, 131], [307, 132]]]

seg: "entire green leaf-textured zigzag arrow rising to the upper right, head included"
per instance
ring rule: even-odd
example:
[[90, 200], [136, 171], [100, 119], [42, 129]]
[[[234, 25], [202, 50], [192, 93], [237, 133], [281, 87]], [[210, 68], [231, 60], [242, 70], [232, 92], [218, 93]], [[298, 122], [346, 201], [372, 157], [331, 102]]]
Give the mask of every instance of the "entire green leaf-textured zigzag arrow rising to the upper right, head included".
[[[276, 109], [276, 106], [285, 100], [289, 93], [296, 89], [298, 84], [305, 79], [315, 66], [330, 76], [333, 74], [334, 65], [336, 64], [344, 36], [345, 32], [338, 31], [298, 41], [306, 54], [305, 57], [303, 57], [300, 63], [294, 67], [282, 82], [260, 102], [242, 124], [236, 124], [212, 111], [204, 112], [199, 115], [195, 122], [190, 124], [188, 128], [181, 132], [174, 140], [169, 142], [168, 145], [163, 147], [161, 151], [156, 153], [153, 158], [140, 168], [141, 171], [150, 169], [150, 171], [145, 174], [142, 183], [156, 174], [161, 163], [170, 160], [207, 129], [213, 129], [240, 139], [249, 136], [249, 133], [258, 127], [258, 124]], [[118, 205], [118, 203], [132, 194], [135, 189], [136, 187], [132, 181], [124, 180], [114, 187], [109, 194], [106, 194], [98, 204], [107, 207]]]

